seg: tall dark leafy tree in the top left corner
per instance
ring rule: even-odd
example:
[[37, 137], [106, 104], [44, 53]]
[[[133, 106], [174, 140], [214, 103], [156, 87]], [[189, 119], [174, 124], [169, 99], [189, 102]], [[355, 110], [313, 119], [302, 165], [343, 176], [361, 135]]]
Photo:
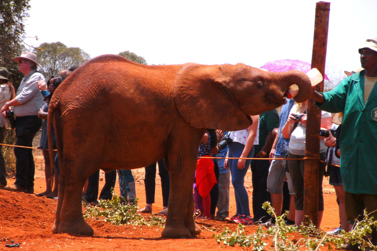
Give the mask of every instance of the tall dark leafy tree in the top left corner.
[[13, 58], [25, 49], [24, 22], [29, 9], [29, 0], [0, 0], [0, 66], [7, 68], [16, 88], [23, 75]]

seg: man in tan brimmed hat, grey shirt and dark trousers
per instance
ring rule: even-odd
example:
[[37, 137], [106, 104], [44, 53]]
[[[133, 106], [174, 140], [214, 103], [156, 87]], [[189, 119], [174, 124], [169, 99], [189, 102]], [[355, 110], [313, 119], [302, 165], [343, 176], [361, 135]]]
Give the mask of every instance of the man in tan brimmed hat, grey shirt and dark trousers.
[[[16, 146], [31, 147], [35, 134], [42, 126], [38, 118], [38, 111], [43, 106], [43, 96], [37, 87], [39, 80], [45, 81], [42, 74], [37, 72], [37, 56], [31, 52], [23, 52], [21, 56], [13, 58], [18, 63], [19, 71], [25, 77], [17, 90], [16, 97], [4, 104], [1, 114], [13, 110], [16, 117]], [[3, 189], [14, 192], [34, 192], [34, 157], [32, 149], [14, 148], [16, 156], [16, 181]]]

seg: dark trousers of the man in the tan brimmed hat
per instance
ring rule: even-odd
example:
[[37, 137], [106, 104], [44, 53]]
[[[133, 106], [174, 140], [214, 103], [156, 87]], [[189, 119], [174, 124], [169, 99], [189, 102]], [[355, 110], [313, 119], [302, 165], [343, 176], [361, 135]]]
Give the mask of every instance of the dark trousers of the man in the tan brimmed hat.
[[[32, 147], [35, 134], [42, 126], [37, 116], [16, 117], [16, 146]], [[33, 150], [14, 148], [16, 156], [16, 185], [28, 190], [34, 188], [35, 164]]]

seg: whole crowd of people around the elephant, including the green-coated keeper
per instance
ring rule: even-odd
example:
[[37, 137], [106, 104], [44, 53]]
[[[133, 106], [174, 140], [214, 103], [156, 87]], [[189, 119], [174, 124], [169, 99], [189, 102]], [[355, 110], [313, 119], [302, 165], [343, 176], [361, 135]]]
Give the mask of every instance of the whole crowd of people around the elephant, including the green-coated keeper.
[[[364, 217], [364, 210], [377, 218], [377, 175], [374, 166], [374, 146], [377, 144], [377, 134], [374, 133], [377, 131], [377, 39], [367, 39], [358, 52], [362, 68], [345, 72], [347, 77], [332, 91], [312, 92], [312, 98], [322, 110], [318, 227], [323, 217], [322, 183], [326, 174], [330, 176], [329, 182], [334, 186], [339, 204], [340, 227], [331, 234], [338, 234], [341, 230], [351, 231], [354, 223]], [[5, 161], [0, 154], [0, 189], [34, 192], [34, 158], [32, 150], [24, 147], [31, 147], [34, 136], [42, 128], [39, 148], [45, 159], [46, 191], [36, 195], [56, 199], [58, 156], [55, 157], [56, 170], [53, 172], [47, 142], [48, 107], [54, 90], [77, 67], [62, 70], [46, 82], [37, 71], [39, 64], [35, 54], [23, 52], [13, 60], [25, 77], [15, 92], [8, 71], [0, 68], [0, 143], [4, 140], [9, 121], [16, 131], [16, 179], [14, 184], [7, 184]], [[244, 225], [260, 223], [269, 227], [275, 225], [275, 216], [289, 211], [285, 223], [302, 224], [307, 106], [308, 101], [295, 103], [294, 100], [287, 100], [280, 115], [272, 110], [251, 116], [253, 123], [244, 130], [224, 132], [207, 129], [198, 148], [193, 180], [198, 219]], [[335, 122], [334, 114], [340, 114], [342, 119]], [[54, 140], [53, 143], [50, 147], [56, 149]], [[211, 156], [220, 158], [212, 159]], [[158, 167], [163, 197], [163, 209], [159, 214], [166, 215], [169, 174], [163, 160], [158, 162]], [[253, 185], [253, 216], [249, 208], [249, 195], [244, 187], [244, 177], [249, 167]], [[145, 167], [147, 204], [138, 210], [141, 213], [152, 213], [156, 170], [156, 163]], [[99, 199], [112, 198], [111, 189], [115, 186], [117, 174], [121, 197], [126, 203], [134, 203], [135, 180], [130, 170], [106, 173], [106, 183]], [[87, 180], [83, 190], [85, 201], [97, 203], [98, 180], [99, 172]], [[234, 216], [229, 215], [230, 181], [236, 201]], [[273, 216], [262, 209], [265, 201], [271, 203]], [[372, 229], [371, 240], [377, 244], [377, 229]]]

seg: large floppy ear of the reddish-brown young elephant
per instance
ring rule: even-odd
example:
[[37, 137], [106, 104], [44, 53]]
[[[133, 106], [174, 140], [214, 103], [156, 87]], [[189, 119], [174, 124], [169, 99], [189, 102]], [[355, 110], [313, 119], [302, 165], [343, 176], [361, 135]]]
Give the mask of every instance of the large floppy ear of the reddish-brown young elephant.
[[247, 128], [252, 120], [228, 94], [231, 76], [219, 65], [189, 64], [174, 82], [174, 96], [182, 117], [195, 128], [236, 131]]

